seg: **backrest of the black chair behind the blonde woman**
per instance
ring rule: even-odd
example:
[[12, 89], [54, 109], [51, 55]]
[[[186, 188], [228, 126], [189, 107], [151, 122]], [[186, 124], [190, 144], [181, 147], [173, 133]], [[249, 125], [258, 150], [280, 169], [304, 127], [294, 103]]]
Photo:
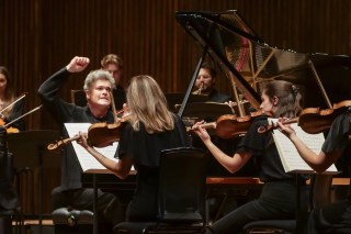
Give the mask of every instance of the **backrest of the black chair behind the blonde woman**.
[[161, 152], [159, 218], [161, 222], [203, 222], [206, 187], [205, 152], [173, 148]]

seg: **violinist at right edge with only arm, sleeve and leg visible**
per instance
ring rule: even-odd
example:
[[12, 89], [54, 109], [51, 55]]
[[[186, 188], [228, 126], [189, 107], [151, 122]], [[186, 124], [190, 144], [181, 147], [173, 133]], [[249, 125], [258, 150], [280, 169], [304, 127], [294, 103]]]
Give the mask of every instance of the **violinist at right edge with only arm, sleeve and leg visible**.
[[[279, 130], [286, 135], [297, 148], [301, 157], [317, 172], [322, 172], [330, 165], [339, 161], [350, 168], [351, 160], [351, 115], [338, 115], [329, 130], [319, 154], [310, 151], [295, 134], [290, 125], [278, 123]], [[349, 176], [350, 176], [350, 171]], [[307, 233], [351, 233], [351, 199], [332, 202], [315, 209], [308, 220]]]

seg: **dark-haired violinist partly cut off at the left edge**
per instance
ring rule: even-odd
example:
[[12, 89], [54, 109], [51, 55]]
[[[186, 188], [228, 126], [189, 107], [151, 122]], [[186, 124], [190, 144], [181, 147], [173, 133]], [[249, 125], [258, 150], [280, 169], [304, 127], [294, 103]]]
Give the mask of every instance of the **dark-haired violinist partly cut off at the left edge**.
[[[10, 73], [5, 67], [0, 66], [0, 118], [3, 124], [10, 123], [11, 121], [20, 118], [23, 114], [23, 99], [16, 102], [15, 100], [16, 97], [13, 93]], [[10, 124], [9, 127], [10, 126], [23, 131], [25, 130], [25, 122], [23, 119], [20, 119]]]

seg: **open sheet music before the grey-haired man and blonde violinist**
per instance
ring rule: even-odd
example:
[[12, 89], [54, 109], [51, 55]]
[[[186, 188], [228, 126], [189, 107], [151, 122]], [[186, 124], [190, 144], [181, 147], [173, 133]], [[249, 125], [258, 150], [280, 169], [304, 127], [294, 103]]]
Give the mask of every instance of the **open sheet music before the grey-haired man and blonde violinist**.
[[[69, 137], [75, 136], [79, 132], [88, 132], [91, 123], [65, 123], [66, 131]], [[102, 166], [91, 154], [89, 154], [82, 146], [80, 146], [76, 141], [71, 142], [76, 156], [79, 160], [81, 169], [83, 172], [94, 172], [94, 174], [111, 174], [104, 166]], [[117, 142], [114, 142], [113, 145], [106, 146], [103, 148], [95, 149], [104, 155], [105, 157], [111, 158], [112, 160], [118, 161], [118, 159], [114, 158], [114, 155], [117, 149]]]

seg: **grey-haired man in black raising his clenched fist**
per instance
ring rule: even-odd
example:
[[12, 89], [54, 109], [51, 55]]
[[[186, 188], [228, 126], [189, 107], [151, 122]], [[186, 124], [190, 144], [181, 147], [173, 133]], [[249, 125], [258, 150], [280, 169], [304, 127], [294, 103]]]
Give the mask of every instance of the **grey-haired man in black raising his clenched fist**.
[[[42, 83], [38, 94], [43, 107], [55, 118], [63, 127], [64, 123], [113, 123], [110, 91], [115, 81], [110, 73], [104, 70], [91, 71], [84, 80], [87, 105], [79, 107], [66, 102], [59, 97], [59, 90], [73, 73], [83, 71], [89, 65], [87, 57], [73, 57], [70, 63], [52, 75]], [[64, 135], [66, 138], [67, 135]], [[65, 147], [61, 167], [61, 185], [52, 192], [53, 209], [70, 207], [77, 210], [93, 211], [93, 189], [82, 188], [81, 169], [72, 147]], [[124, 220], [124, 210], [120, 199], [112, 193], [98, 193], [98, 212], [104, 221], [115, 225]]]

